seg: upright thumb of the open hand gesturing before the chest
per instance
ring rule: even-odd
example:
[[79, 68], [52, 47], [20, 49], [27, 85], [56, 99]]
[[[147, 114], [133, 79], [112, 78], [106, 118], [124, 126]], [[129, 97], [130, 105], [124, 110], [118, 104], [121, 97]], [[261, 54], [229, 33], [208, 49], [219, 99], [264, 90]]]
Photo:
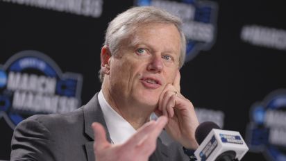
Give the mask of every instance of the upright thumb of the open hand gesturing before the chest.
[[106, 130], [103, 126], [97, 122], [92, 123], [92, 129], [94, 131], [94, 150], [99, 151], [110, 146], [110, 143], [106, 139]]

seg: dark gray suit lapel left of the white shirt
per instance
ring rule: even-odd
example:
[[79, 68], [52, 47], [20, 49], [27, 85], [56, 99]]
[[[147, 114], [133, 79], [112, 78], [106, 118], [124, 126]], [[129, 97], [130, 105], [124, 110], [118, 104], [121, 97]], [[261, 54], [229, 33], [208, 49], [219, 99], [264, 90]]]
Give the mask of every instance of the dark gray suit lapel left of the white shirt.
[[110, 142], [110, 135], [108, 132], [108, 128], [106, 126], [106, 121], [104, 121], [103, 113], [101, 107], [99, 105], [99, 100], [97, 99], [98, 93], [96, 93], [92, 99], [83, 107], [83, 118], [85, 124], [85, 134], [90, 137], [92, 140], [91, 142], [85, 143], [85, 150], [87, 153], [87, 160], [94, 161], [94, 151], [93, 151], [93, 144], [94, 144], [94, 133], [92, 130], [92, 123], [99, 122], [105, 129], [106, 129], [106, 138]]

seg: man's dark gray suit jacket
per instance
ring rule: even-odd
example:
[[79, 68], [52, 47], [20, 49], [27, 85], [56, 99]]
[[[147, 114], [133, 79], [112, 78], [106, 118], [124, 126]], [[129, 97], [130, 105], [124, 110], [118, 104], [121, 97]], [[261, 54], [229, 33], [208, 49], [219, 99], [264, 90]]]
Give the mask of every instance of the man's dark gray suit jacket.
[[[74, 112], [29, 117], [15, 128], [11, 160], [94, 161], [93, 122], [106, 128], [97, 94]], [[107, 128], [106, 131], [110, 141]], [[160, 135], [149, 160], [190, 160], [182, 146], [166, 136], [165, 132]]]

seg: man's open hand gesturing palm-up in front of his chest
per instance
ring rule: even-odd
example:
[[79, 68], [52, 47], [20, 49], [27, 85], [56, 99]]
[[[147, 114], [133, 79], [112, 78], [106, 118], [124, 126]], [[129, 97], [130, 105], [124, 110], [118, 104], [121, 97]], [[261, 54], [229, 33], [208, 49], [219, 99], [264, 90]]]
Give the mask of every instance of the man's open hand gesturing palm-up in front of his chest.
[[106, 131], [103, 126], [93, 123], [96, 161], [147, 161], [155, 151], [157, 138], [167, 121], [167, 117], [162, 116], [157, 121], [147, 122], [124, 144], [110, 144], [106, 139]]

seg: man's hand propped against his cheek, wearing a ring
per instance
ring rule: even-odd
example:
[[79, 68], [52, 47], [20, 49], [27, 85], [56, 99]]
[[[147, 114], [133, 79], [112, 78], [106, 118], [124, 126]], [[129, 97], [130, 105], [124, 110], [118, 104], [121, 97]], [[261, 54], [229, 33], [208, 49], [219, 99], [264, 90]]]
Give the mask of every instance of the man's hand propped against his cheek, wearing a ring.
[[180, 71], [177, 71], [173, 84], [166, 85], [160, 94], [156, 115], [169, 117], [167, 133], [187, 149], [196, 149], [194, 133], [199, 121], [191, 101], [180, 94]]

